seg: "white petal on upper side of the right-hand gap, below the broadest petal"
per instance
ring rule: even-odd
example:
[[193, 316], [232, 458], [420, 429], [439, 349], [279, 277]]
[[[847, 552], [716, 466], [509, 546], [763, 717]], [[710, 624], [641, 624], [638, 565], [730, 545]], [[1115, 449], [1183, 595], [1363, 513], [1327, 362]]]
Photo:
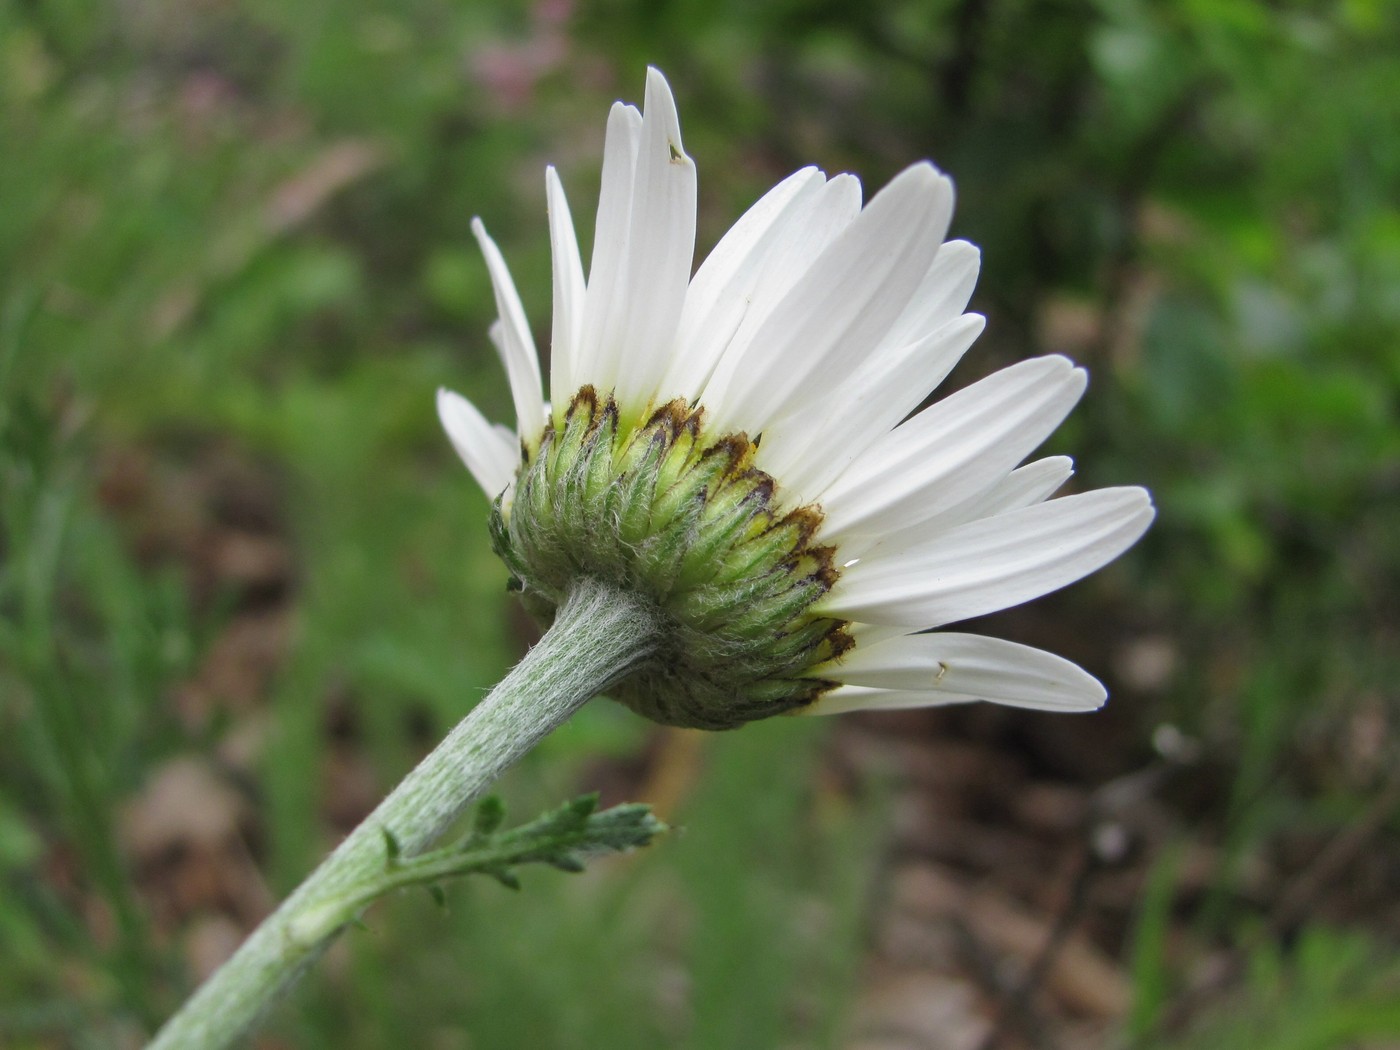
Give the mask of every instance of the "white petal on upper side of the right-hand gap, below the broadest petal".
[[822, 501], [834, 479], [851, 468], [889, 428], [918, 407], [981, 335], [986, 319], [963, 314], [917, 343], [888, 351], [850, 374], [844, 386], [769, 427], [760, 468], [781, 477], [798, 503]]

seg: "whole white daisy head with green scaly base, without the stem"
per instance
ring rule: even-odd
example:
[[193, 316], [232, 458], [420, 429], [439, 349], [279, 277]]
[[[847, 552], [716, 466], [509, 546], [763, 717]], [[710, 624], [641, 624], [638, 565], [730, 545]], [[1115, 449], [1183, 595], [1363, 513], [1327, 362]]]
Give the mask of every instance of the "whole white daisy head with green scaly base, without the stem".
[[[979, 252], [944, 241], [931, 164], [862, 207], [860, 182], [788, 176], [692, 276], [696, 168], [665, 78], [608, 119], [588, 279], [546, 171], [550, 402], [501, 253], [477, 221], [517, 428], [442, 391], [496, 500], [493, 540], [547, 622], [573, 581], [634, 592], [664, 643], [613, 692], [658, 721], [993, 700], [1091, 710], [1103, 687], [1015, 643], [931, 631], [1070, 584], [1147, 529], [1142, 489], [1050, 498], [1068, 458], [1023, 463], [1085, 388], [1022, 361], [918, 410], [983, 328]], [[914, 414], [910, 414], [914, 413]]]

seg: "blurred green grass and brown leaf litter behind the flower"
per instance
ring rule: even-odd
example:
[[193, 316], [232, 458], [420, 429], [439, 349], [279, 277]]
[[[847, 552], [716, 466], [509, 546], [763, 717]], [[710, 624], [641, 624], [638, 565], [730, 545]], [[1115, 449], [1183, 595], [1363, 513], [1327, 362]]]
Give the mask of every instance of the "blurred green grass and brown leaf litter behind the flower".
[[[1389, 0], [3, 0], [0, 1046], [139, 1044], [528, 643], [433, 392], [508, 417], [469, 221], [543, 336], [543, 165], [587, 258], [648, 63], [700, 251], [802, 164], [952, 174], [990, 325], [951, 385], [1071, 354], [1053, 448], [1161, 508], [984, 624], [1113, 700], [706, 738], [594, 704], [515, 816], [601, 787], [685, 832], [381, 906], [262, 1044], [1400, 1044], [1397, 55]], [[1088, 806], [1039, 896], [1011, 846], [939, 871], [1096, 945], [1093, 1025], [1030, 952], [965, 1042], [872, 1035], [918, 739]], [[959, 805], [928, 848], [1008, 823]]]

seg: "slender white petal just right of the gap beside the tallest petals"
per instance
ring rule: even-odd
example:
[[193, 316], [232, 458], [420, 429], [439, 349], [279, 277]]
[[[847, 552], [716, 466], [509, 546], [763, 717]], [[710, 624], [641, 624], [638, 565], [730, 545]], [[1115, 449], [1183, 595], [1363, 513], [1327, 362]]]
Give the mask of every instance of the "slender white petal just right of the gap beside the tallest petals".
[[802, 204], [825, 185], [816, 168], [788, 175], [720, 238], [686, 291], [662, 396], [693, 399], [699, 395], [749, 312], [753, 290], [785, 228], [784, 220], [802, 211]]

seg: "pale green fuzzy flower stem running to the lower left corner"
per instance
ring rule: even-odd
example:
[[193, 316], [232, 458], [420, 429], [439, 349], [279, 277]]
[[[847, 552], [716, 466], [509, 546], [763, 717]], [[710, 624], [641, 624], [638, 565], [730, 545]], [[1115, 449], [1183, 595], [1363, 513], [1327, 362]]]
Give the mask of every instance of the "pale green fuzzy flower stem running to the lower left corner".
[[654, 613], [580, 578], [553, 626], [491, 693], [356, 827], [155, 1035], [148, 1050], [218, 1050], [248, 1035], [364, 904], [385, 869], [427, 850], [505, 769], [587, 700], [645, 661]]

